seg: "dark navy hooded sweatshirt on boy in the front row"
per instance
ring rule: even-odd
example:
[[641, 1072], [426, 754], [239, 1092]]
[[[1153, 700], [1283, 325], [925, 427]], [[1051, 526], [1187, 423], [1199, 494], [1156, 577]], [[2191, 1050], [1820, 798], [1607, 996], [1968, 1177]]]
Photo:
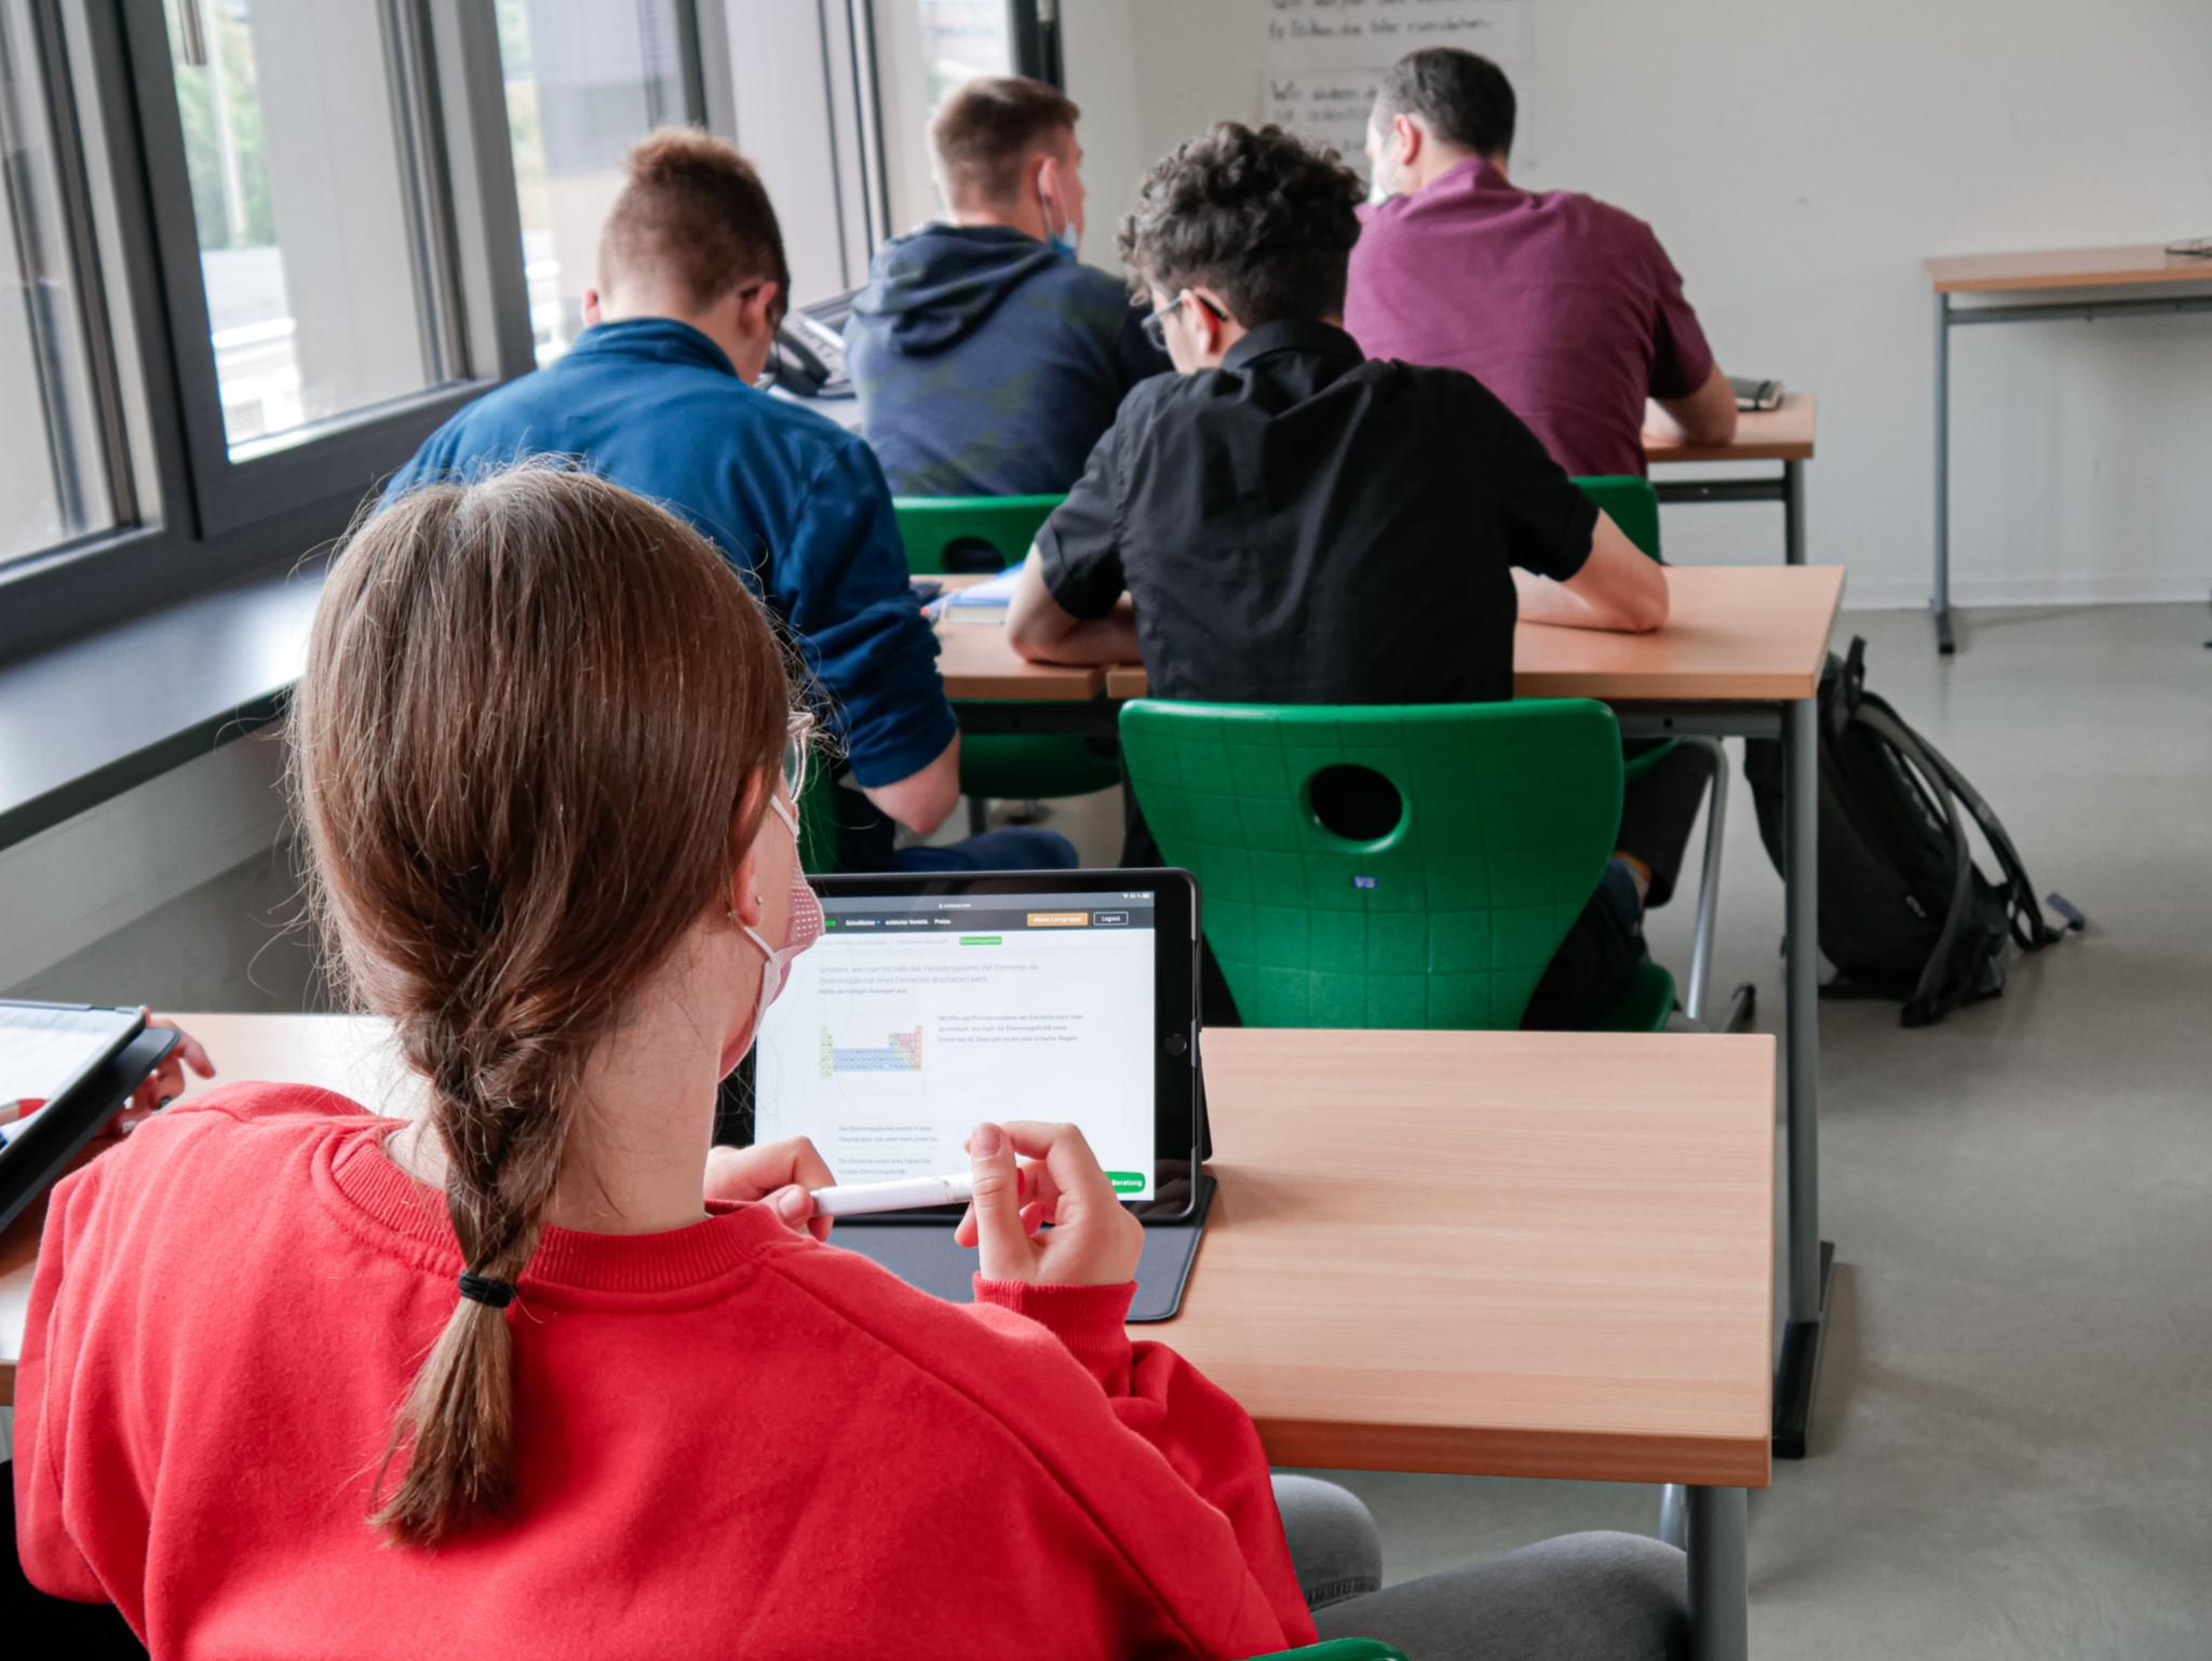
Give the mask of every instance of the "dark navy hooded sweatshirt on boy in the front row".
[[1168, 367], [1119, 279], [1002, 226], [887, 241], [845, 325], [898, 495], [1057, 495], [1121, 396]]

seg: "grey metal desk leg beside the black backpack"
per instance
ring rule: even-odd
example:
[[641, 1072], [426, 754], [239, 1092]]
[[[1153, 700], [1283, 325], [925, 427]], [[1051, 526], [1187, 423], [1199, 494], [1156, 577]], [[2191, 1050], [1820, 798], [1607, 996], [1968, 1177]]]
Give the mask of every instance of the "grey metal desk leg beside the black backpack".
[[1820, 706], [1783, 706], [1785, 1033], [1790, 1082], [1790, 1318], [1774, 1378], [1774, 1453], [1805, 1458], [1834, 1247], [1820, 1241]]

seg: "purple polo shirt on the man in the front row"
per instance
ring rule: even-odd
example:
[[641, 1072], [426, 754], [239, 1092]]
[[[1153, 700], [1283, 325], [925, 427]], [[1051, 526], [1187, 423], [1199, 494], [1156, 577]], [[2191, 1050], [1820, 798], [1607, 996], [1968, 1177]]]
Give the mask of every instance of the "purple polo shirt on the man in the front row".
[[1652, 228], [1462, 161], [1363, 208], [1345, 330], [1369, 358], [1464, 369], [1577, 476], [1644, 473], [1644, 398], [1688, 398], [1712, 349]]

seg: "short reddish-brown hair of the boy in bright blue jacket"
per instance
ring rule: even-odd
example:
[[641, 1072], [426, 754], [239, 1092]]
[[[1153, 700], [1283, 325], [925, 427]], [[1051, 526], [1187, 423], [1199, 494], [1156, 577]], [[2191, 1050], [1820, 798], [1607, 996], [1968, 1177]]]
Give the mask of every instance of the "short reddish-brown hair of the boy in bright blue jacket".
[[732, 288], [774, 283], [790, 305], [792, 268], [768, 186], [710, 133], [670, 126], [630, 146], [630, 179], [599, 232], [599, 285], [655, 272], [706, 310]]

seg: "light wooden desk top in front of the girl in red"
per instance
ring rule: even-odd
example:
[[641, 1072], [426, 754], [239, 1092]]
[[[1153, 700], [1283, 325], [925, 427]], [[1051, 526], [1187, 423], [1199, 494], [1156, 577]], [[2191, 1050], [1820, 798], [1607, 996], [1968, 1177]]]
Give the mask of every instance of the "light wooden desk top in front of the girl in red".
[[[184, 1024], [228, 1077], [409, 1101], [376, 1022]], [[1276, 1464], [1767, 1482], [1772, 1037], [1221, 1031], [1206, 1059], [1221, 1197], [1183, 1314], [1137, 1336]]]

